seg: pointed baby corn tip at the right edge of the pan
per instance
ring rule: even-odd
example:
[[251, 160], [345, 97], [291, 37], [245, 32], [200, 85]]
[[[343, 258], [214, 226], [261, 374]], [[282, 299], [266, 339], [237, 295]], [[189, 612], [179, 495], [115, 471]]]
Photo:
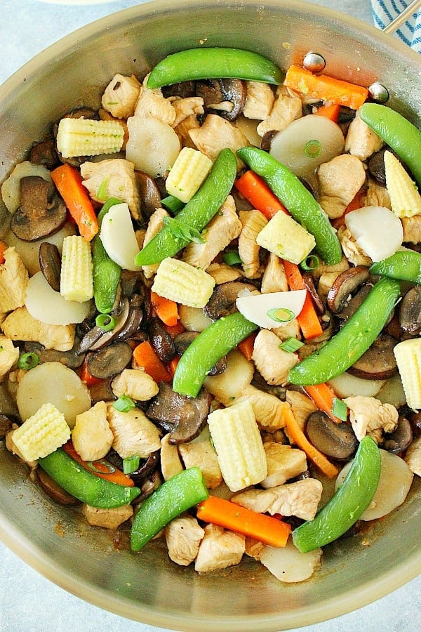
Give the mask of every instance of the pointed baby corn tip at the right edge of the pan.
[[392, 152], [385, 152], [386, 188], [392, 211], [398, 217], [412, 217], [421, 213], [421, 195], [399, 160]]

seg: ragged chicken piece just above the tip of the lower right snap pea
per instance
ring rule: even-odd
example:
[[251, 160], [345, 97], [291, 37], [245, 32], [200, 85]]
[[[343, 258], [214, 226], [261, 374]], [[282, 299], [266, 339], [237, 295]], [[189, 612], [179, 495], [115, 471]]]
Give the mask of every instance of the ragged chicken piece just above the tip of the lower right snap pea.
[[392, 404], [382, 404], [375, 397], [347, 397], [349, 421], [356, 438], [361, 441], [369, 435], [376, 443], [382, 441], [382, 432], [393, 433], [398, 425], [399, 412]]

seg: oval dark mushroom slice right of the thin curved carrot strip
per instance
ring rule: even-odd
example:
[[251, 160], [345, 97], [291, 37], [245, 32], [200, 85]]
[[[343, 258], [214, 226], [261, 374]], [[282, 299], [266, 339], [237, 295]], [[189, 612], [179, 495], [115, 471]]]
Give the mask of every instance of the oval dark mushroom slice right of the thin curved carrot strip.
[[321, 410], [307, 419], [306, 433], [314, 447], [338, 461], [349, 459], [358, 445], [352, 428], [346, 423], [335, 423]]

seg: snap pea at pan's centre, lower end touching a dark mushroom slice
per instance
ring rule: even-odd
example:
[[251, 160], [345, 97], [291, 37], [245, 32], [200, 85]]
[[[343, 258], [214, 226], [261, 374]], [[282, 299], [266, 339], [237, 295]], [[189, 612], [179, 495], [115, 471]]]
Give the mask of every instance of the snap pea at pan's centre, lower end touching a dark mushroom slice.
[[240, 312], [215, 320], [194, 338], [180, 357], [173, 378], [173, 390], [180, 395], [196, 397], [210, 369], [255, 329], [258, 325], [244, 318]]

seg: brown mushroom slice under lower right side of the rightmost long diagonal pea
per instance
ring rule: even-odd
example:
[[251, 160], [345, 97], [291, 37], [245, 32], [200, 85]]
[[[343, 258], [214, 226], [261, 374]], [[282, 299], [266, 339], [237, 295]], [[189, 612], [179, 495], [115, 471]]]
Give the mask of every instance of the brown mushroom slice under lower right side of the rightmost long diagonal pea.
[[395, 338], [382, 331], [370, 348], [359, 360], [349, 367], [348, 372], [366, 380], [387, 380], [396, 374], [397, 365], [393, 349]]

